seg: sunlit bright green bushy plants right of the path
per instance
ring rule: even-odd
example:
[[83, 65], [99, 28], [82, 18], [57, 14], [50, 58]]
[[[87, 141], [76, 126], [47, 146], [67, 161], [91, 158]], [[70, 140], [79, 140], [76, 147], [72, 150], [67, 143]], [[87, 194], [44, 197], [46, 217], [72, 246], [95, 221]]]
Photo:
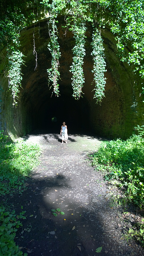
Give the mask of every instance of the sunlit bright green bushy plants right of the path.
[[116, 179], [125, 188], [128, 200], [142, 206], [144, 204], [144, 126], [137, 126], [138, 135], [126, 141], [121, 139], [104, 143], [91, 156], [92, 165], [97, 170], [105, 170], [106, 180]]

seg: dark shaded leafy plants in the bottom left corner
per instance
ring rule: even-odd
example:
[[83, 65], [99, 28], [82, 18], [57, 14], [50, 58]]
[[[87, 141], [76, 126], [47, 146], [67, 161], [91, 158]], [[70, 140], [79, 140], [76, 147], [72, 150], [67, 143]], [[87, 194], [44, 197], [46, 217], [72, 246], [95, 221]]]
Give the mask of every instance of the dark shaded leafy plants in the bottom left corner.
[[[22, 208], [22, 207], [21, 207]], [[25, 211], [16, 214], [11, 210], [8, 204], [0, 204], [0, 255], [3, 256], [22, 256], [23, 252], [19, 250], [14, 242], [16, 232], [22, 227], [20, 219], [26, 219]], [[27, 256], [25, 253], [23, 256]]]

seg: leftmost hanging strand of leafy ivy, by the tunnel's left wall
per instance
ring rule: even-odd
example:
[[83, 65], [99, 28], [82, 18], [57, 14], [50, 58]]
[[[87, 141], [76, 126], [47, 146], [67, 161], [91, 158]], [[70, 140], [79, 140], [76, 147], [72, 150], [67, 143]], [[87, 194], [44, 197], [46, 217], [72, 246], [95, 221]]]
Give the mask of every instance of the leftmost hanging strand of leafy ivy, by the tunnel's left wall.
[[21, 64], [23, 64], [23, 54], [19, 50], [12, 51], [8, 57], [8, 86], [12, 91], [13, 105], [17, 106], [16, 99], [18, 98], [19, 88], [21, 87]]

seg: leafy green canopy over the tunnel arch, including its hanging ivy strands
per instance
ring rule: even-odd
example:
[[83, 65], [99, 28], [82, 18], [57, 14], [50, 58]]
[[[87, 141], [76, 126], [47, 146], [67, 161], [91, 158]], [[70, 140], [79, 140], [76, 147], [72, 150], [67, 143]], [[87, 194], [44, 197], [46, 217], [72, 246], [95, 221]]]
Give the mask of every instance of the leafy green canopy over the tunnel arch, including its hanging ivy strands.
[[[74, 32], [76, 46], [73, 48], [73, 63], [70, 71], [72, 72], [72, 87], [74, 98], [80, 98], [82, 86], [84, 84], [84, 74], [82, 70], [84, 51], [85, 24], [91, 22], [95, 24], [96, 34], [93, 34], [93, 73], [95, 82], [95, 95], [97, 102], [104, 96], [104, 72], [105, 61], [103, 56], [103, 46], [97, 28], [103, 30], [108, 26], [115, 34], [119, 57], [123, 62], [127, 62], [134, 71], [135, 86], [141, 84], [144, 93], [144, 0], [19, 0], [2, 1], [0, 0], [0, 43], [1, 49], [4, 47], [14, 47], [18, 51], [19, 31], [25, 26], [40, 20], [45, 14], [50, 16], [50, 39], [48, 48], [52, 54], [52, 67], [47, 70], [49, 81], [54, 86], [53, 92], [59, 95], [58, 72], [60, 47], [56, 28], [56, 17], [64, 15], [69, 20], [70, 29]], [[80, 28], [81, 27], [81, 28]], [[79, 35], [78, 35], [79, 34]], [[81, 38], [80, 38], [81, 36]], [[78, 54], [78, 48], [80, 50]], [[11, 53], [13, 59], [13, 52]], [[18, 53], [20, 62], [22, 56]], [[97, 60], [99, 56], [99, 61]], [[21, 62], [22, 63], [22, 62]], [[79, 67], [78, 67], [79, 63]], [[18, 68], [19, 72], [12, 77], [12, 66], [9, 71], [11, 74], [11, 86], [14, 85], [12, 93], [14, 99], [17, 96], [19, 85], [21, 84], [21, 72], [17, 62], [13, 62], [13, 68]], [[79, 81], [78, 81], [79, 80]], [[14, 81], [14, 83], [13, 83]], [[15, 104], [14, 100], [14, 104]]]

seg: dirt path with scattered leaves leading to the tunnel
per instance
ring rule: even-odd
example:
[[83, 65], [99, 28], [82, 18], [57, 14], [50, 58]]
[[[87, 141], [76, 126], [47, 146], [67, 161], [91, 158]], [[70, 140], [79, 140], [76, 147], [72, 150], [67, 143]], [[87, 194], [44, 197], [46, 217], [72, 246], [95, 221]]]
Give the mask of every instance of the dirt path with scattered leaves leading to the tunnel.
[[[41, 164], [27, 180], [27, 190], [9, 201], [26, 210], [23, 230], [16, 242], [31, 256], [137, 256], [144, 250], [122, 239], [122, 209], [114, 208], [111, 192], [86, 157], [101, 138], [70, 135], [61, 144], [58, 134], [35, 134], [25, 138], [43, 149]], [[64, 215], [53, 216], [60, 208]]]

